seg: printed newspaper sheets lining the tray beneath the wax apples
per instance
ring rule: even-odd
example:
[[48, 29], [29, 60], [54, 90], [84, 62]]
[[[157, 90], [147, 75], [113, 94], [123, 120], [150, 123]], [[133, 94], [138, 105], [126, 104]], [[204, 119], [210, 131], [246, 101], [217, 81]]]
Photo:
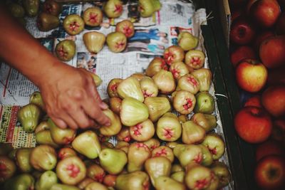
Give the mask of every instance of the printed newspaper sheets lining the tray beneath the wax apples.
[[[84, 31], [76, 36], [68, 36], [62, 24], [52, 31], [38, 31], [35, 18], [26, 18], [27, 30], [41, 42], [43, 46], [53, 52], [56, 44], [69, 38], [76, 43], [76, 55], [66, 62], [77, 68], [86, 68], [96, 73], [103, 80], [98, 87], [102, 99], [108, 97], [108, 82], [113, 78], [127, 78], [133, 73], [142, 73], [150, 61], [162, 56], [165, 49], [177, 45], [177, 36], [182, 31], [189, 31], [199, 37], [198, 49], [204, 51], [206, 60], [204, 67], [208, 68], [207, 52], [203, 46], [204, 39], [200, 31], [200, 25], [207, 24], [206, 11], [198, 9], [190, 1], [160, 0], [162, 8], [149, 18], [141, 18], [138, 12], [138, 1], [124, 1], [123, 15], [118, 19], [104, 18], [103, 23], [97, 27], [86, 26]], [[64, 4], [59, 18], [61, 23], [69, 14], [82, 15], [90, 6], [102, 7], [102, 1], [93, 1], [79, 4]], [[83, 42], [83, 34], [88, 31], [99, 31], [107, 35], [115, 31], [115, 24], [129, 19], [134, 23], [135, 35], [128, 39], [128, 45], [122, 53], [113, 53], [104, 46], [99, 53], [87, 51]], [[28, 104], [31, 93], [37, 91], [31, 81], [25, 78], [14, 68], [6, 63], [0, 63], [0, 139], [1, 142], [11, 143], [13, 147], [34, 147], [36, 145], [33, 134], [21, 130], [16, 121], [16, 113], [19, 107]], [[212, 84], [209, 93], [214, 95]], [[218, 126], [216, 132], [223, 136], [222, 123], [216, 103], [214, 115], [217, 117]], [[114, 139], [111, 139], [114, 140]], [[221, 159], [229, 164], [227, 151]], [[232, 184], [225, 189], [232, 189]]]

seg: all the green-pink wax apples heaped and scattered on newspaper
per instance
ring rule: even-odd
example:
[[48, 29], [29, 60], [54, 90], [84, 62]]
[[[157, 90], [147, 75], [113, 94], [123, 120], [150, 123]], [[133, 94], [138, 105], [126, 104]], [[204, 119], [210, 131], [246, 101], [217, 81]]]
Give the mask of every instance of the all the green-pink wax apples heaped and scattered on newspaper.
[[[151, 16], [160, 6], [158, 0], [139, 1], [142, 17]], [[60, 6], [48, 0], [43, 7], [51, 14]], [[115, 18], [122, 11], [121, 1], [109, 0], [103, 11], [93, 7], [84, 11], [83, 18], [66, 16], [63, 28], [76, 35], [84, 24], [99, 25], [103, 13]], [[39, 29], [56, 26], [41, 19], [41, 14], [38, 19]], [[98, 53], [106, 40], [116, 53], [124, 50], [133, 33], [133, 23], [125, 20], [108, 36], [93, 31], [85, 33], [83, 41], [88, 51]], [[209, 190], [228, 186], [230, 171], [219, 161], [225, 152], [224, 140], [214, 132], [217, 110], [209, 93], [212, 72], [204, 68], [205, 55], [197, 49], [198, 43], [197, 36], [182, 32], [177, 46], [153, 58], [145, 73], [110, 80], [105, 100], [109, 108], [103, 111], [110, 117], [110, 126], [61, 129], [45, 115], [41, 93], [33, 93], [19, 110], [18, 120], [26, 132], [35, 133], [36, 147], [11, 149], [1, 144], [3, 189]], [[66, 61], [75, 49], [75, 43], [66, 39], [58, 43], [55, 54]], [[93, 79], [97, 87], [102, 82], [98, 75], [93, 74]], [[110, 137], [118, 142], [111, 144]]]

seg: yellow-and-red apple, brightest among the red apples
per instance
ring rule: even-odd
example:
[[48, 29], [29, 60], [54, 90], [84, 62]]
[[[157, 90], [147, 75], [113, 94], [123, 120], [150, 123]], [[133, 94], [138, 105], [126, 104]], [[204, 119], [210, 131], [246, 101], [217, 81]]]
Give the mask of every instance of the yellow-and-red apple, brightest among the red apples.
[[257, 93], [266, 84], [267, 69], [258, 60], [242, 60], [236, 68], [237, 85], [249, 93]]

